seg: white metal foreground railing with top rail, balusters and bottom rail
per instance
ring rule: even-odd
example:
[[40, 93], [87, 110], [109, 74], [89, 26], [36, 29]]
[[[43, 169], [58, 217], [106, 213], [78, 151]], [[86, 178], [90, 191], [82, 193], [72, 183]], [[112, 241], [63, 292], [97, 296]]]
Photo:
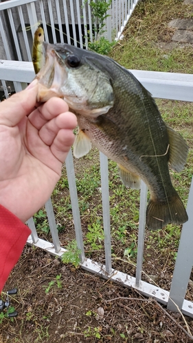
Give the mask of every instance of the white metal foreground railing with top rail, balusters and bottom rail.
[[[193, 102], [193, 75], [178, 74], [178, 73], [159, 73], [153, 71], [131, 71], [138, 80], [146, 86], [148, 91], [151, 91], [153, 97], [161, 97], [166, 99], [179, 99], [183, 101]], [[0, 79], [14, 82], [31, 82], [34, 78], [34, 71], [31, 62], [16, 62], [1, 60], [0, 63]], [[190, 195], [188, 199], [188, 216], [189, 220], [183, 225], [181, 233], [181, 241], [177, 254], [177, 261], [174, 268], [174, 275], [170, 292], [150, 285], [141, 280], [143, 250], [144, 250], [144, 229], [146, 223], [146, 202], [147, 189], [142, 182], [140, 211], [139, 211], [139, 235], [137, 247], [137, 268], [136, 278], [129, 276], [111, 268], [111, 230], [109, 216], [109, 189], [108, 189], [108, 162], [106, 156], [100, 154], [101, 166], [101, 184], [102, 184], [102, 208], [104, 218], [104, 248], [105, 248], [105, 265], [98, 262], [85, 259], [84, 257], [84, 242], [82, 239], [82, 230], [80, 222], [80, 213], [78, 209], [78, 196], [76, 191], [76, 180], [73, 169], [73, 159], [71, 152], [67, 156], [66, 167], [69, 180], [69, 190], [71, 195], [71, 205], [73, 211], [73, 223], [76, 230], [76, 240], [78, 248], [81, 250], [81, 266], [82, 268], [101, 275], [112, 281], [121, 283], [126, 287], [133, 287], [146, 296], [151, 296], [159, 300], [159, 302], [168, 305], [168, 309], [177, 311], [181, 309], [183, 314], [187, 314], [193, 318], [193, 303], [185, 300], [185, 292], [190, 279], [190, 273], [193, 265], [193, 181], [190, 187]], [[49, 220], [49, 227], [52, 233], [52, 242], [38, 238], [34, 221], [31, 218], [28, 225], [32, 230], [32, 235], [28, 239], [28, 244], [44, 249], [55, 256], [63, 255], [65, 248], [60, 246], [58, 238], [58, 230], [52, 209], [52, 203], [49, 200], [46, 204], [46, 211]]]

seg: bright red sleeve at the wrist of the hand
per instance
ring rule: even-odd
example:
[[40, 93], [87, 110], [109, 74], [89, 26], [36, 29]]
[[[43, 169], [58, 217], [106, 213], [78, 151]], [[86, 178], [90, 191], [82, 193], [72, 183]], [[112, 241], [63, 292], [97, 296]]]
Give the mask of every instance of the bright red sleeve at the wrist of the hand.
[[30, 233], [28, 226], [0, 205], [0, 294]]

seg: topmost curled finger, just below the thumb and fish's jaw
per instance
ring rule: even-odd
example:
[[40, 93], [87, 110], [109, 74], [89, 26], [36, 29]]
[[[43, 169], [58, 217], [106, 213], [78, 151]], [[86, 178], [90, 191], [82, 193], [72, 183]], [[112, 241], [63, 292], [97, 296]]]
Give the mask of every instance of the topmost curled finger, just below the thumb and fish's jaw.
[[47, 121], [60, 115], [60, 113], [67, 112], [68, 110], [69, 107], [63, 99], [52, 97], [45, 102], [45, 104], [36, 108], [36, 110], [29, 115], [28, 119], [36, 129], [41, 130]]

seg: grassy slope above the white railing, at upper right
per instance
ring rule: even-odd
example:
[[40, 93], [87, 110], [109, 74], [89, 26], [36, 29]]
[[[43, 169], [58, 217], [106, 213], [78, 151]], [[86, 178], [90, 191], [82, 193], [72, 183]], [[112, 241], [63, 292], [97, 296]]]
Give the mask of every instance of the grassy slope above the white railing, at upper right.
[[192, 7], [179, 0], [139, 2], [111, 57], [128, 69], [192, 73], [192, 46], [168, 49], [174, 33], [168, 23], [176, 18], [192, 18]]

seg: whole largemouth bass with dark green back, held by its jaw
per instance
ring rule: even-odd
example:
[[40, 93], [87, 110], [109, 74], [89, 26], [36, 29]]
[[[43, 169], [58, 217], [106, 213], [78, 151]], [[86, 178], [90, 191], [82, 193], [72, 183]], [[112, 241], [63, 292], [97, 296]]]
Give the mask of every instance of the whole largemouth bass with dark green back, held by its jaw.
[[172, 186], [168, 162], [181, 171], [188, 146], [163, 122], [150, 93], [109, 57], [67, 44], [43, 43], [38, 101], [63, 97], [76, 114], [79, 132], [74, 155], [84, 156], [91, 143], [115, 161], [126, 187], [150, 190], [146, 224], [152, 230], [188, 220]]

